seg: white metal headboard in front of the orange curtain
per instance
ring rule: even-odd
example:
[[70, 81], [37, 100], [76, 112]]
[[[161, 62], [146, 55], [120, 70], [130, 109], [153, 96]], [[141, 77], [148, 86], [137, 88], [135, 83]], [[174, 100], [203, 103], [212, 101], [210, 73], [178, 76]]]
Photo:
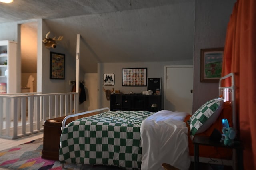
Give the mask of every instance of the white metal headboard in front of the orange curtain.
[[[222, 80], [231, 77], [231, 86], [222, 87]], [[235, 77], [234, 73], [230, 73], [220, 78], [219, 81], [219, 95], [223, 97], [224, 100], [230, 101], [232, 105], [232, 118], [233, 118], [233, 127], [236, 129], [236, 87], [235, 87]]]

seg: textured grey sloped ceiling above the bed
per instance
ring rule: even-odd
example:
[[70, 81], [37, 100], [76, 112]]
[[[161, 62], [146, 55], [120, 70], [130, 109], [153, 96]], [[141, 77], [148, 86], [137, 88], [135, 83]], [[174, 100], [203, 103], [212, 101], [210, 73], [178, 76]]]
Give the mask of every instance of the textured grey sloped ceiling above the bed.
[[[59, 45], [96, 73], [97, 63], [193, 59], [194, 0], [14, 0], [0, 4], [0, 23], [44, 19]], [[58, 51], [58, 47], [56, 48]]]

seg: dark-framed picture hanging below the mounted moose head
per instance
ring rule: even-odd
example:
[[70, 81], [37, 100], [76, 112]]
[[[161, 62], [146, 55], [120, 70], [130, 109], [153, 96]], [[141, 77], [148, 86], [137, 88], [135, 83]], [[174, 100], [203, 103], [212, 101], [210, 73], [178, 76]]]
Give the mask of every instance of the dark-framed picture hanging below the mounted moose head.
[[65, 79], [65, 54], [50, 52], [50, 79]]

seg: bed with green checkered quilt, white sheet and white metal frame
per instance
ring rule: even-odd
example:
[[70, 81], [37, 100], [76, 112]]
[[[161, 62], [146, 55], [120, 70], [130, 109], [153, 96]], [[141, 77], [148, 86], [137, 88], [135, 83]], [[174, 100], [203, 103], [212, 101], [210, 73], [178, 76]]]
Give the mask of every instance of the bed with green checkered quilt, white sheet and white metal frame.
[[[230, 76], [234, 78], [234, 75], [228, 77]], [[225, 76], [224, 79], [226, 78]], [[232, 83], [232, 88], [221, 87], [221, 84], [220, 95], [227, 100], [219, 109], [220, 115], [223, 116], [224, 104], [234, 102], [232, 97], [234, 86]], [[229, 104], [227, 107], [229, 115], [230, 106]], [[106, 109], [107, 111], [102, 112]], [[234, 110], [234, 108], [231, 109], [233, 113]], [[64, 164], [76, 163], [114, 165], [127, 170], [161, 170], [161, 164], [165, 162], [182, 170], [189, 168], [193, 146], [191, 145], [191, 127], [188, 123], [192, 116], [188, 113], [167, 110], [156, 113], [109, 111], [108, 108], [91, 112], [96, 111], [100, 113], [73, 121], [66, 127], [65, 119], [63, 120], [60, 139], [62, 167]], [[220, 116], [215, 119], [217, 124], [219, 119], [221, 119]], [[211, 129], [210, 127], [208, 128]], [[194, 135], [204, 135], [204, 133], [205, 131]], [[230, 156], [230, 152], [228, 153], [227, 158]]]

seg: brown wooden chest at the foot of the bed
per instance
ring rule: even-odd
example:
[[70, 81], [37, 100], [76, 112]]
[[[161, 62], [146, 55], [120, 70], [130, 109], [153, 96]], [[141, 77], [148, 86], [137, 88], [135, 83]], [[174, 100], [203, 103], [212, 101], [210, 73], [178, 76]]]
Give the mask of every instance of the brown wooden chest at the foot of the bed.
[[[82, 118], [88, 117], [92, 115], [96, 115], [98, 113], [88, 113], [85, 115], [80, 115], [76, 117], [71, 117], [67, 119], [66, 124]], [[61, 125], [65, 116], [57, 117], [54, 119], [48, 119], [44, 122], [44, 139], [43, 139], [43, 150], [42, 150], [42, 158], [50, 159], [50, 160], [59, 160], [59, 149], [60, 149], [60, 135], [61, 135]]]

